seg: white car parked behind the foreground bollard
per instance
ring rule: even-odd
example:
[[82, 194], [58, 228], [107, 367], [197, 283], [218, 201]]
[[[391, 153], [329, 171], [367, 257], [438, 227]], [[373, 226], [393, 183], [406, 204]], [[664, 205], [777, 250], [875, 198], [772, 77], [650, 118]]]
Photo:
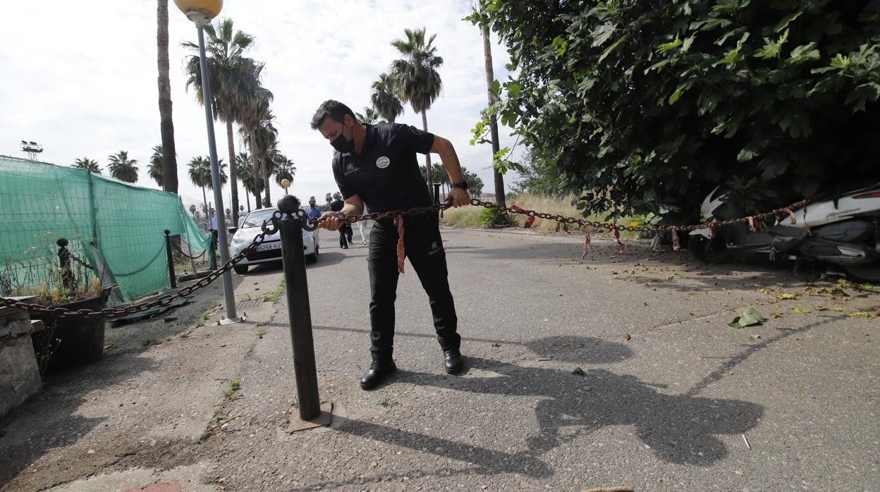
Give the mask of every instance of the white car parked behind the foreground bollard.
[[[247, 245], [251, 244], [253, 239], [259, 236], [260, 232], [263, 231], [261, 227], [263, 222], [272, 217], [272, 214], [276, 211], [278, 211], [278, 209], [275, 209], [274, 207], [253, 210], [247, 214], [245, 221], [241, 224], [240, 228], [230, 229], [230, 231], [235, 231], [232, 235], [230, 254], [235, 256], [236, 254], [241, 253], [241, 250], [245, 249]], [[305, 255], [306, 263], [314, 263], [315, 261], [318, 261], [320, 245], [317, 232], [318, 231], [303, 231], [303, 254]], [[248, 253], [241, 261], [238, 261], [238, 263], [235, 264], [235, 273], [244, 275], [247, 273], [247, 268], [250, 265], [272, 261], [281, 261], [281, 236], [278, 232], [267, 236], [254, 251]]]

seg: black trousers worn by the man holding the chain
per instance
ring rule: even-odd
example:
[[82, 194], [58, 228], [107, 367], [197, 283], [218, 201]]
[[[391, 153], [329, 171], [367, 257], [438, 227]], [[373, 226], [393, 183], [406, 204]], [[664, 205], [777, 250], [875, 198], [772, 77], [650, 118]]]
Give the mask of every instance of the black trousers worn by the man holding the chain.
[[[403, 241], [422, 288], [428, 294], [437, 341], [444, 350], [458, 349], [458, 317], [449, 290], [446, 253], [436, 215], [404, 220]], [[370, 350], [385, 355], [394, 346], [394, 301], [397, 299], [397, 227], [391, 220], [376, 221], [370, 231]]]

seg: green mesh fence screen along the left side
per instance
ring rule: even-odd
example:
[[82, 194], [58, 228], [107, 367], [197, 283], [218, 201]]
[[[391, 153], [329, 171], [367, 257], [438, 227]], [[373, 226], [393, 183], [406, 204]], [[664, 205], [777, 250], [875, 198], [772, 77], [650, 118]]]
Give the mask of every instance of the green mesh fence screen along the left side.
[[[192, 253], [210, 246], [180, 197], [82, 169], [0, 156], [0, 295], [51, 289], [58, 246], [85, 282], [115, 285], [124, 300], [169, 286], [165, 230]], [[98, 281], [92, 280], [97, 278]]]

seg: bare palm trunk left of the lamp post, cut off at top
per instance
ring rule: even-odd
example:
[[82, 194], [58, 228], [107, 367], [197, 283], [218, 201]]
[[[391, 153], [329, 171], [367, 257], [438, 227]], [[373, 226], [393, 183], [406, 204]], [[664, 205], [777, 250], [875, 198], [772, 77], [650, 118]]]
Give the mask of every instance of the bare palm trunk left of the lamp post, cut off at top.
[[168, 0], [158, 0], [158, 32], [156, 34], [159, 130], [162, 134], [162, 187], [177, 193], [177, 151], [174, 149], [174, 122], [172, 121], [171, 80], [168, 77]]

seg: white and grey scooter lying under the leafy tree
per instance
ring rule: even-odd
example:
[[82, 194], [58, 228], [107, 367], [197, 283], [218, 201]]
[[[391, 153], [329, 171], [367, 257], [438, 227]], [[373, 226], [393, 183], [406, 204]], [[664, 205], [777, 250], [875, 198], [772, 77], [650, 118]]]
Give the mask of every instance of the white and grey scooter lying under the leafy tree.
[[[742, 222], [698, 229], [690, 233], [687, 247], [707, 263], [766, 254], [770, 260], [839, 265], [857, 279], [880, 283], [880, 183], [792, 212], [792, 217], [778, 217], [774, 224], [755, 224], [755, 231]], [[744, 217], [735, 204], [725, 202], [718, 188], [706, 197], [700, 215], [707, 222]]]

